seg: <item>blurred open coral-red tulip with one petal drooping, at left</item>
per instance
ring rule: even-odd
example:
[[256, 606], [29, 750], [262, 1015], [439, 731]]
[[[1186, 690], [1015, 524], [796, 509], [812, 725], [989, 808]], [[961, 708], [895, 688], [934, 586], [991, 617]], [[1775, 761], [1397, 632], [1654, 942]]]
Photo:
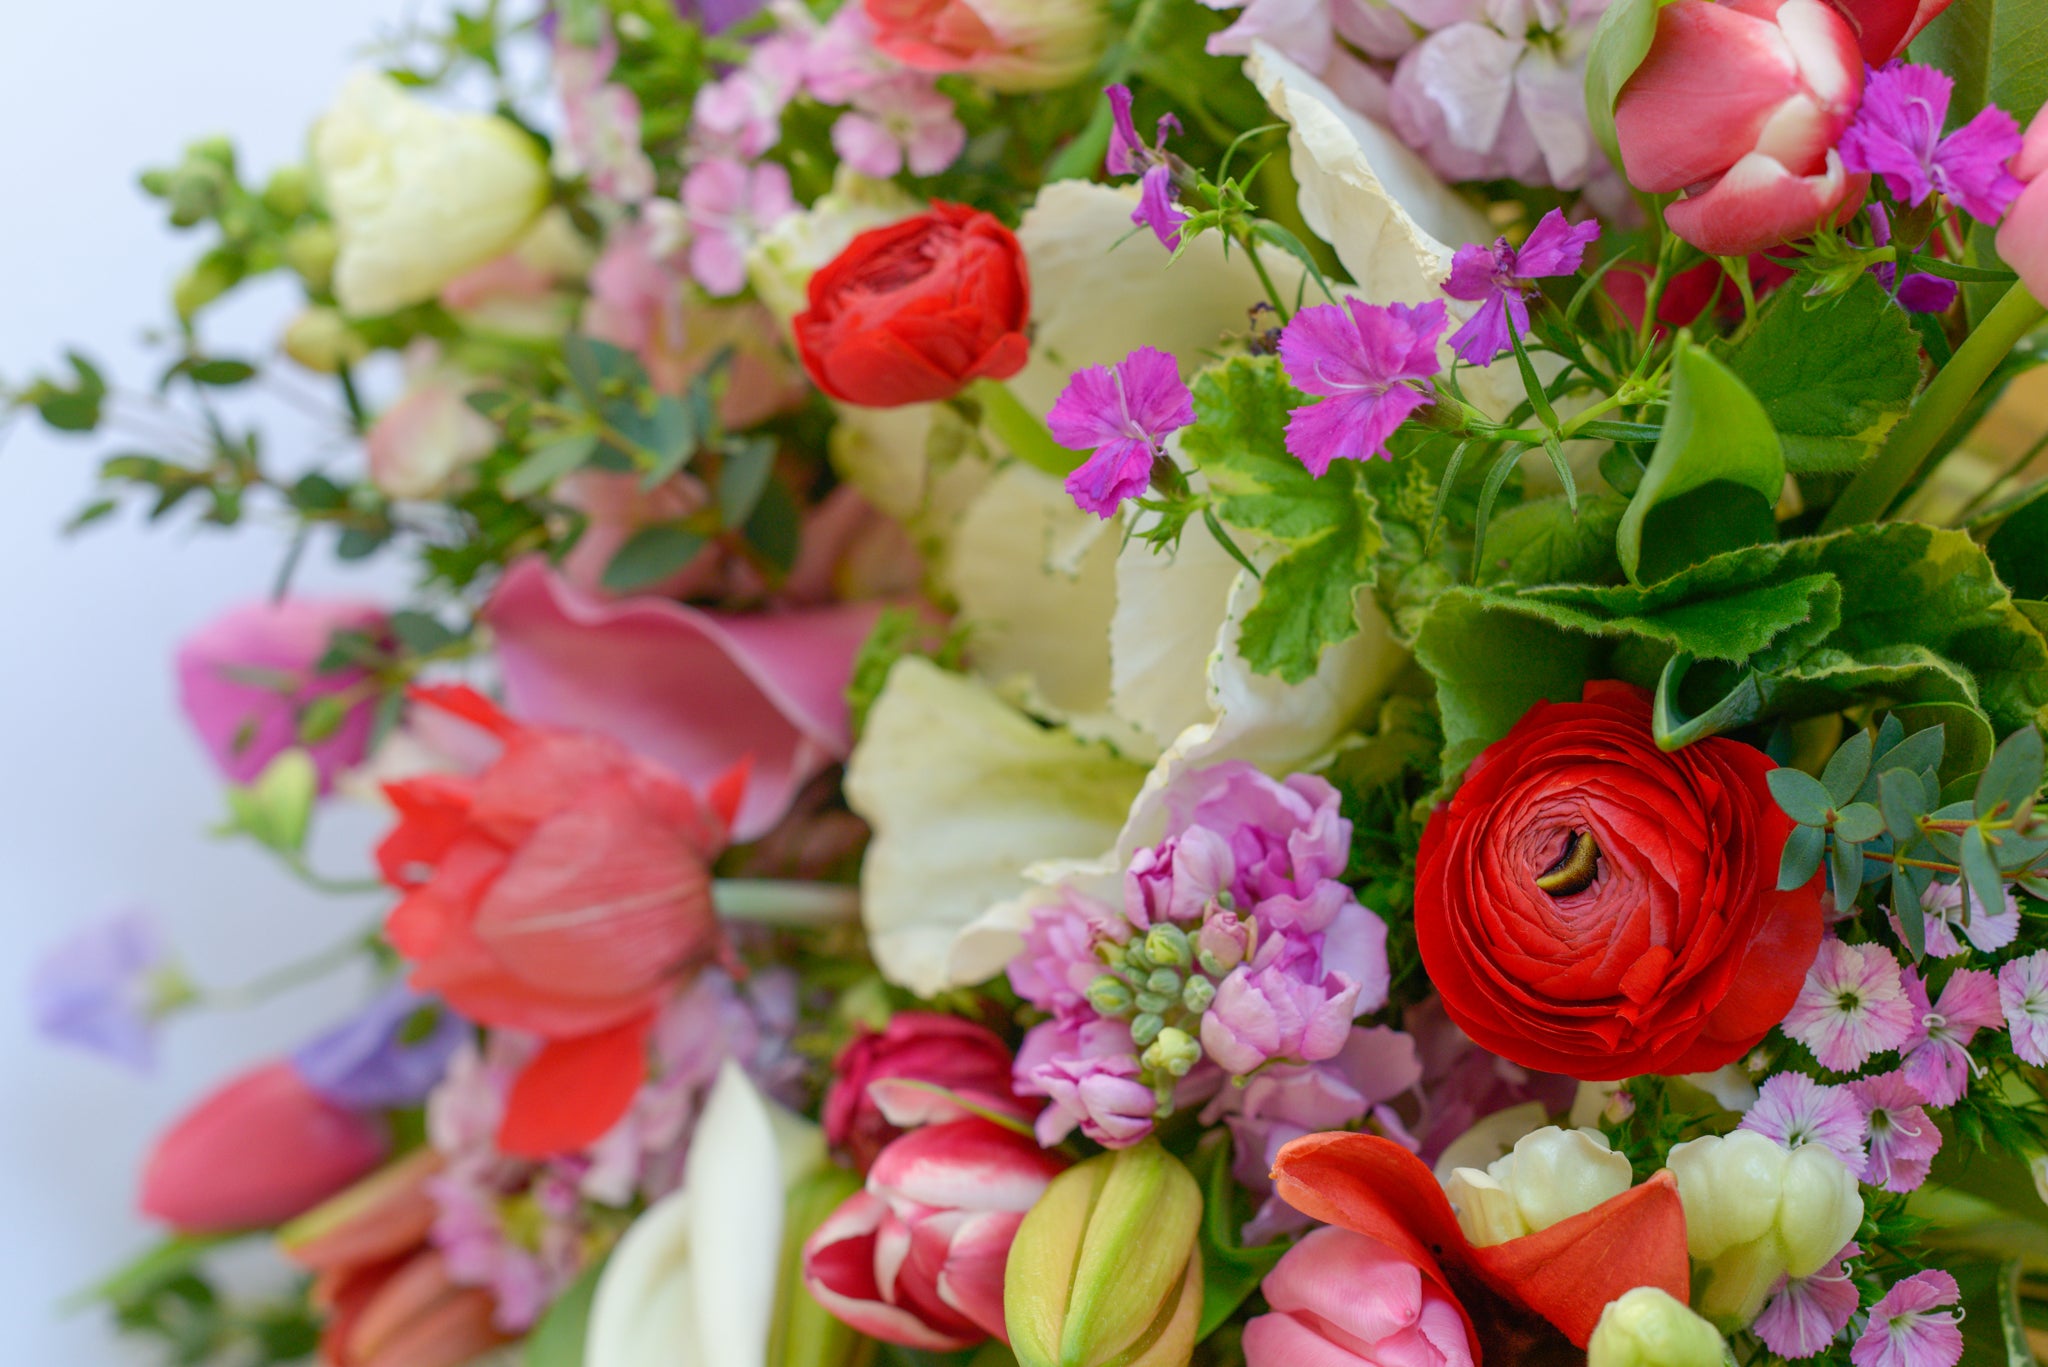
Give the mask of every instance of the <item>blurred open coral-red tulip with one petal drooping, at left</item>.
[[659, 1004], [721, 953], [711, 859], [745, 771], [700, 801], [606, 736], [520, 726], [469, 689], [414, 697], [504, 750], [475, 777], [385, 785], [399, 824], [377, 865], [406, 894], [385, 933], [416, 988], [547, 1041], [512, 1084], [498, 1146], [584, 1148], [645, 1080]]

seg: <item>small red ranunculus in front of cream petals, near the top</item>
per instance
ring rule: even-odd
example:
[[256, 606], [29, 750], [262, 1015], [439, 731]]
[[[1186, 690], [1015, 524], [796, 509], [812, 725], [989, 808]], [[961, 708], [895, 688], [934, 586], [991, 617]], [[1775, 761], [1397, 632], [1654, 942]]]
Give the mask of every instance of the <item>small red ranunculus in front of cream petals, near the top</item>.
[[846, 404], [897, 408], [1008, 379], [1030, 342], [1024, 248], [979, 209], [934, 203], [854, 238], [811, 277], [797, 350], [817, 387]]

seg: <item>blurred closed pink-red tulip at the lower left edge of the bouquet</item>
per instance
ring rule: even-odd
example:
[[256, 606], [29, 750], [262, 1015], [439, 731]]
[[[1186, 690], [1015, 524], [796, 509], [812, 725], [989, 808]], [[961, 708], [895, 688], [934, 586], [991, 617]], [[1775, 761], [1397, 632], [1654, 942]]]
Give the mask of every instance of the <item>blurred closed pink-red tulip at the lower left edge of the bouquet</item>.
[[274, 1226], [375, 1168], [383, 1127], [324, 1099], [287, 1062], [209, 1094], [156, 1142], [141, 1211], [180, 1234]]

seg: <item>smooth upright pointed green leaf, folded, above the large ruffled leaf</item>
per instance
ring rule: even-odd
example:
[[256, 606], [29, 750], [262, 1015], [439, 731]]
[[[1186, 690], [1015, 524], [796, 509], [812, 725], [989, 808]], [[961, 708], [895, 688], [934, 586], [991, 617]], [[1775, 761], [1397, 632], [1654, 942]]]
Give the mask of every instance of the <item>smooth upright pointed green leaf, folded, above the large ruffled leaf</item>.
[[1663, 437], [1616, 549], [1636, 584], [1778, 535], [1786, 465], [1772, 420], [1729, 367], [1679, 342]]

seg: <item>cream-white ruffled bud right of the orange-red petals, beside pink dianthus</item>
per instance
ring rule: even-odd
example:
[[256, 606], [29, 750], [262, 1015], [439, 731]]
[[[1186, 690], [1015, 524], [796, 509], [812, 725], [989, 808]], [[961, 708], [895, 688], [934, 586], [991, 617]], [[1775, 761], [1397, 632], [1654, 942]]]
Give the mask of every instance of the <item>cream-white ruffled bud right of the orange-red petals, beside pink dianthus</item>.
[[1700, 1312], [1751, 1322], [1780, 1277], [1810, 1277], [1864, 1224], [1855, 1178], [1817, 1144], [1784, 1150], [1739, 1129], [1671, 1150], [1686, 1250], [1706, 1265]]

